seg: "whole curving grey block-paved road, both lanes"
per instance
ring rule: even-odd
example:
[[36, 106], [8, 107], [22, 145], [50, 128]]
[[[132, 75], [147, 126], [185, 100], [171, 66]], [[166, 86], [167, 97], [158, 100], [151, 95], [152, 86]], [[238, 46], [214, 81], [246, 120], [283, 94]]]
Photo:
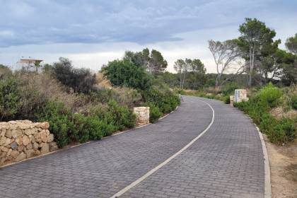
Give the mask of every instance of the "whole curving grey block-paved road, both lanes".
[[0, 168], [0, 197], [112, 197], [203, 132], [209, 105], [209, 130], [120, 197], [264, 197], [262, 145], [250, 120], [216, 100], [184, 100], [156, 124]]

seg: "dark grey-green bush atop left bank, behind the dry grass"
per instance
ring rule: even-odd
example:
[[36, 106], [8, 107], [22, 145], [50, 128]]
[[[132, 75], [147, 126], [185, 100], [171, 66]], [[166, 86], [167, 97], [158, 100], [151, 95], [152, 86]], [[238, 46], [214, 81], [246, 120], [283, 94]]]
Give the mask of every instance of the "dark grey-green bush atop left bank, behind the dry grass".
[[59, 62], [52, 67], [54, 78], [65, 86], [69, 86], [77, 93], [89, 93], [94, 90], [95, 74], [89, 69], [74, 69], [69, 59], [59, 58]]

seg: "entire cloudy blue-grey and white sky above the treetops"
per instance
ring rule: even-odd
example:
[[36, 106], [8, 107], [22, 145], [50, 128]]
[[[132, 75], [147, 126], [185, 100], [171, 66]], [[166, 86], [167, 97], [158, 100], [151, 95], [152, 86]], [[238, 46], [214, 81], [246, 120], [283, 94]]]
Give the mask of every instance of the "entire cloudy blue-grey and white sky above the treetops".
[[173, 72], [177, 59], [199, 58], [215, 72], [208, 40], [238, 37], [245, 18], [276, 31], [281, 48], [297, 33], [296, 0], [0, 0], [0, 63], [59, 57], [98, 71], [124, 51], [159, 50]]

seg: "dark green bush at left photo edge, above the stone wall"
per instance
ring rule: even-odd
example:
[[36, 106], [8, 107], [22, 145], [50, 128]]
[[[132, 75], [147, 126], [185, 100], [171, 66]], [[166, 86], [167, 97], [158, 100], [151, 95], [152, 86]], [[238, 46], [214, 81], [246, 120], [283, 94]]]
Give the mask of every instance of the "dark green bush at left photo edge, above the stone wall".
[[16, 78], [0, 80], [0, 121], [13, 120], [21, 108], [21, 91]]

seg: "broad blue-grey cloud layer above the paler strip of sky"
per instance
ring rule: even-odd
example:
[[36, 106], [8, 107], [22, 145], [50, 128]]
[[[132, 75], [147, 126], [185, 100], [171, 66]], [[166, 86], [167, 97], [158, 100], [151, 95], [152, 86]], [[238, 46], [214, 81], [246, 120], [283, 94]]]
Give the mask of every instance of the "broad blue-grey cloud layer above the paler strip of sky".
[[[0, 37], [0, 47], [45, 43], [180, 40], [183, 33], [239, 23], [273, 1], [5, 1], [0, 27], [15, 33]], [[283, 4], [283, 3], [282, 3]]]

